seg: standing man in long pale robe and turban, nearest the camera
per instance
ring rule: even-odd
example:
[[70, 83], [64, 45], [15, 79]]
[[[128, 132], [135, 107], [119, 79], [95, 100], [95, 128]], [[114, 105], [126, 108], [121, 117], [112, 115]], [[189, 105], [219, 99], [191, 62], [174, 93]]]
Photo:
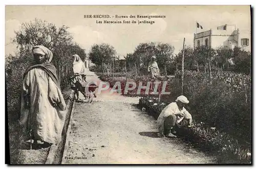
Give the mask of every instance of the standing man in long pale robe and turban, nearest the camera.
[[45, 46], [34, 46], [35, 63], [23, 76], [20, 124], [31, 133], [33, 144], [57, 144], [66, 117], [66, 103], [61, 94], [53, 54]]

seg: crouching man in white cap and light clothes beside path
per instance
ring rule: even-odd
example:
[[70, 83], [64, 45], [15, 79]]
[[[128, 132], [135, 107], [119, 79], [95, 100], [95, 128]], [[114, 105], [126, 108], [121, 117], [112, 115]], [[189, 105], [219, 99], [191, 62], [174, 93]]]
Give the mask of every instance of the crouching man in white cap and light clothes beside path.
[[[158, 136], [159, 137], [177, 137], [172, 133], [172, 129], [175, 124], [180, 122], [183, 119], [188, 120], [189, 126], [192, 126], [192, 117], [189, 112], [184, 108], [184, 105], [189, 103], [185, 96], [179, 96], [176, 99], [176, 102], [168, 104], [161, 112], [157, 119], [158, 125]], [[168, 125], [169, 130], [164, 131], [164, 125]]]

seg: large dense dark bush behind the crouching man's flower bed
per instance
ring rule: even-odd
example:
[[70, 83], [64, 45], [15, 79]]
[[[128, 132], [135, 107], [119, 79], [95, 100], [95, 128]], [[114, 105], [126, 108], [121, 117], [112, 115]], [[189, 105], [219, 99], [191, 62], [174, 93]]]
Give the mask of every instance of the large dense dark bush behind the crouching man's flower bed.
[[[215, 77], [217, 76], [214, 75], [214, 78], [210, 79], [205, 74], [184, 75], [184, 95], [191, 100], [187, 105], [189, 111], [195, 119], [209, 126], [219, 127], [220, 131], [230, 133], [242, 144], [249, 144], [251, 142], [250, 77], [226, 72], [218, 78]], [[241, 83], [242, 77], [247, 86], [246, 90]], [[170, 86], [172, 87], [169, 89], [172, 91], [170, 97], [163, 96], [163, 100], [167, 102], [179, 96], [181, 80], [175, 79]]]

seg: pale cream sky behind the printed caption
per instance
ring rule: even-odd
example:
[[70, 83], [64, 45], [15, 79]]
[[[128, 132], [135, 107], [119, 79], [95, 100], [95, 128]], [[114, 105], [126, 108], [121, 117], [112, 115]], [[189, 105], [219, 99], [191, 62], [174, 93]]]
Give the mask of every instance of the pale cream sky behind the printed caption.
[[[110, 15], [111, 19], [84, 18], [84, 15]], [[165, 18], [115, 18], [115, 15], [165, 15]], [[114, 18], [113, 18], [114, 17]], [[175, 53], [185, 45], [193, 47], [194, 33], [235, 24], [240, 30], [250, 30], [250, 6], [6, 6], [6, 54], [14, 53], [10, 43], [14, 31], [35, 18], [69, 26], [74, 41], [88, 53], [93, 44], [109, 43], [117, 54], [126, 55], [139, 43], [162, 42], [175, 47]], [[99, 24], [96, 20], [152, 20], [154, 24]], [[203, 30], [196, 30], [196, 21]]]

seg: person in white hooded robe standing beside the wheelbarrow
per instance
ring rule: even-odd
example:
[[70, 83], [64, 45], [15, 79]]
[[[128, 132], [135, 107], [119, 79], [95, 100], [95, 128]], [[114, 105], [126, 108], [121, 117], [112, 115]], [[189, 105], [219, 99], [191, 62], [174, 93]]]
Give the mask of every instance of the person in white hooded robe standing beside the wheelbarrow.
[[[74, 82], [86, 81], [86, 66], [80, 59], [79, 55], [74, 54], [72, 57], [73, 57], [72, 70], [71, 70], [72, 80]], [[75, 84], [73, 82], [71, 83], [71, 89], [74, 90], [76, 93], [76, 96], [77, 96], [76, 100], [81, 101], [81, 99], [79, 99], [79, 91], [76, 90]]]

